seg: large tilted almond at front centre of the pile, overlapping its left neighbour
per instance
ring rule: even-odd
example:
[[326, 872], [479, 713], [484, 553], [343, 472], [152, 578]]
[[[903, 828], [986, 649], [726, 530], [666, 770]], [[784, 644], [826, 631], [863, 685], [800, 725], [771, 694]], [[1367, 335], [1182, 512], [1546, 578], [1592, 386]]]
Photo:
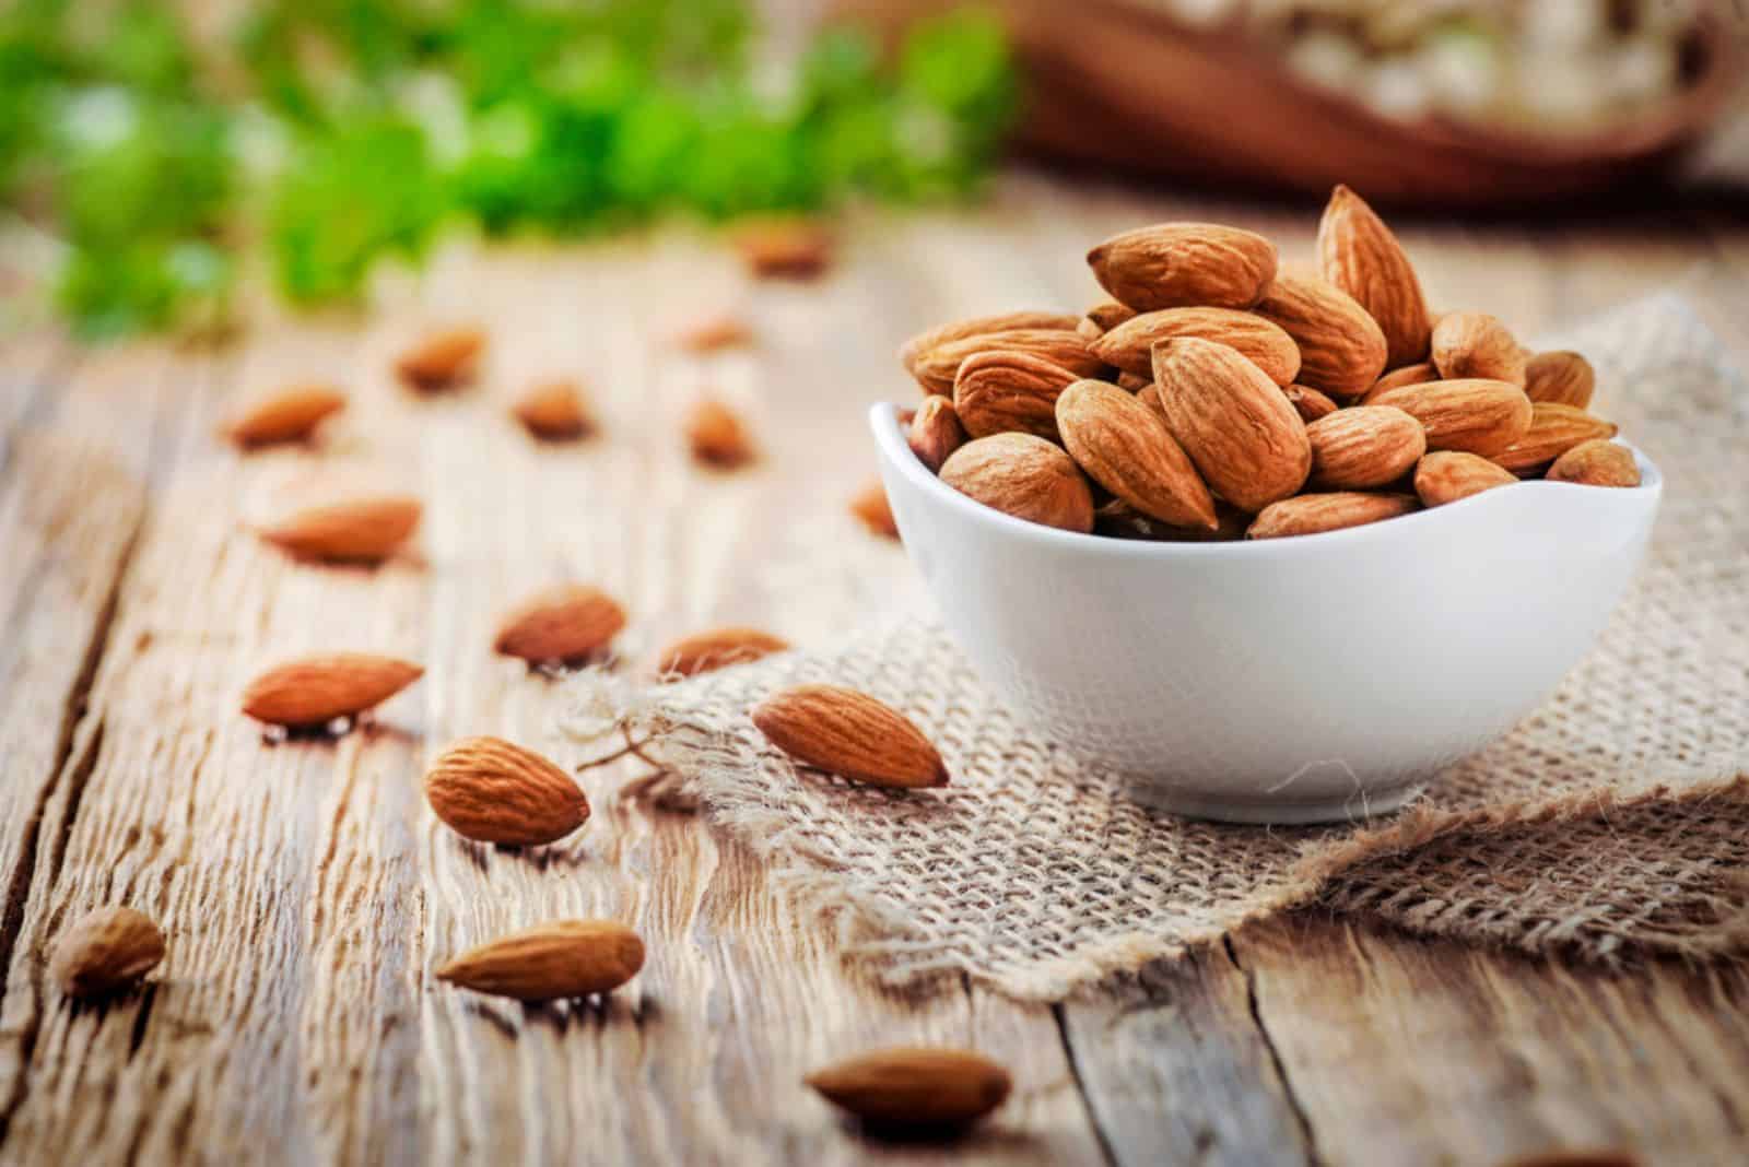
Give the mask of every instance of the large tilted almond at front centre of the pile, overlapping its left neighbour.
[[1237, 351], [1165, 341], [1154, 346], [1154, 383], [1167, 428], [1221, 498], [1258, 512], [1305, 486], [1305, 423], [1280, 386]]

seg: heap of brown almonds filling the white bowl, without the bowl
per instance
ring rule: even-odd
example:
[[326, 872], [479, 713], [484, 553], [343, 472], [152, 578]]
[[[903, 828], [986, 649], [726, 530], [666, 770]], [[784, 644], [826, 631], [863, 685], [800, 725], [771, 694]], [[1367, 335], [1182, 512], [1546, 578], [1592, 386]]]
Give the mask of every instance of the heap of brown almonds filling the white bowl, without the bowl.
[[1315, 535], [1520, 479], [1639, 486], [1588, 412], [1578, 353], [1527, 353], [1494, 316], [1427, 311], [1390, 229], [1336, 187], [1317, 276], [1216, 224], [1088, 252], [1111, 293], [913, 337], [918, 461], [1009, 515], [1119, 538]]

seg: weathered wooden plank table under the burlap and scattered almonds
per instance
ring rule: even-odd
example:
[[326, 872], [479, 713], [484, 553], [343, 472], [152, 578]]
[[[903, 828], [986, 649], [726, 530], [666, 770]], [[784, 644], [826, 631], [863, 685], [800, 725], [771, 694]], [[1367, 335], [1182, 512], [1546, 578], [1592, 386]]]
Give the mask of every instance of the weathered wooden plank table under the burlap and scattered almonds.
[[[873, 468], [862, 407], [909, 393], [894, 346], [955, 314], [1090, 302], [1084, 248], [1174, 217], [1258, 227], [1305, 259], [1315, 208], [1013, 175], [985, 208], [852, 217], [813, 287], [749, 287], [708, 239], [663, 232], [455, 248], [387, 280], [369, 320], [271, 321], [220, 351], [7, 344], [0, 1160], [1495, 1164], [1623, 1146], [1742, 1162], [1742, 966], [1606, 975], [1303, 914], [1060, 1006], [909, 996], [847, 968], [829, 928], [694, 816], [598, 800], [586, 832], [518, 854], [427, 811], [420, 776], [446, 741], [553, 742], [563, 688], [490, 652], [500, 611], [540, 584], [619, 594], [633, 650], [724, 620], [819, 643], [906, 594], [902, 552], [864, 556], [843, 515]], [[1749, 358], [1749, 236], [1704, 211], [1403, 234], [1441, 306], [1534, 335], [1676, 283]], [[756, 355], [663, 344], [731, 302]], [[470, 391], [413, 398], [388, 358], [444, 318], [486, 321], [491, 365]], [[596, 440], [542, 449], [507, 421], [509, 393], [544, 372], [589, 381]], [[306, 376], [353, 397], [324, 449], [241, 458], [213, 438], [243, 395]], [[689, 466], [677, 418], [707, 383], [754, 418], [761, 466]], [[418, 489], [422, 554], [322, 570], [259, 545], [245, 524], [318, 470]], [[834, 542], [881, 566], [834, 575]], [[318, 648], [429, 671], [366, 732], [264, 744], [238, 690]], [[142, 992], [75, 1008], [44, 954], [101, 903], [161, 921], [170, 957]], [[586, 914], [651, 949], [603, 1003], [525, 1010], [432, 977], [462, 947]], [[799, 1085], [899, 1041], [979, 1046], [1016, 1095], [951, 1148], [887, 1146]]]

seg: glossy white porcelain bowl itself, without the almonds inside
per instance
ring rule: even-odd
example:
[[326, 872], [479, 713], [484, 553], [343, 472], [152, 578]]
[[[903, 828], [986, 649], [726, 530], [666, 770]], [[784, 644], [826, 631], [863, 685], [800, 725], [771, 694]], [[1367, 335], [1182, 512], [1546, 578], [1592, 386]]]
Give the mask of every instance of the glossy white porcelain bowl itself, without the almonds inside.
[[1378, 814], [1530, 713], [1644, 557], [1663, 479], [1522, 482], [1401, 519], [1149, 543], [1013, 519], [869, 421], [904, 547], [978, 674], [1051, 741], [1198, 818]]

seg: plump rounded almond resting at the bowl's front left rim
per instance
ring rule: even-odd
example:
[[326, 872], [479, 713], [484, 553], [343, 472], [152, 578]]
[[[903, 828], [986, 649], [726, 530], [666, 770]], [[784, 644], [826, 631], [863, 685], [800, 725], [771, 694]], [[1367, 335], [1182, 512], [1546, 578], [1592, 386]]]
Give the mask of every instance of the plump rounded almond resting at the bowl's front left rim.
[[1032, 433], [995, 433], [967, 442], [943, 463], [941, 480], [1027, 522], [1063, 531], [1093, 529], [1093, 491], [1081, 468], [1058, 445]]

